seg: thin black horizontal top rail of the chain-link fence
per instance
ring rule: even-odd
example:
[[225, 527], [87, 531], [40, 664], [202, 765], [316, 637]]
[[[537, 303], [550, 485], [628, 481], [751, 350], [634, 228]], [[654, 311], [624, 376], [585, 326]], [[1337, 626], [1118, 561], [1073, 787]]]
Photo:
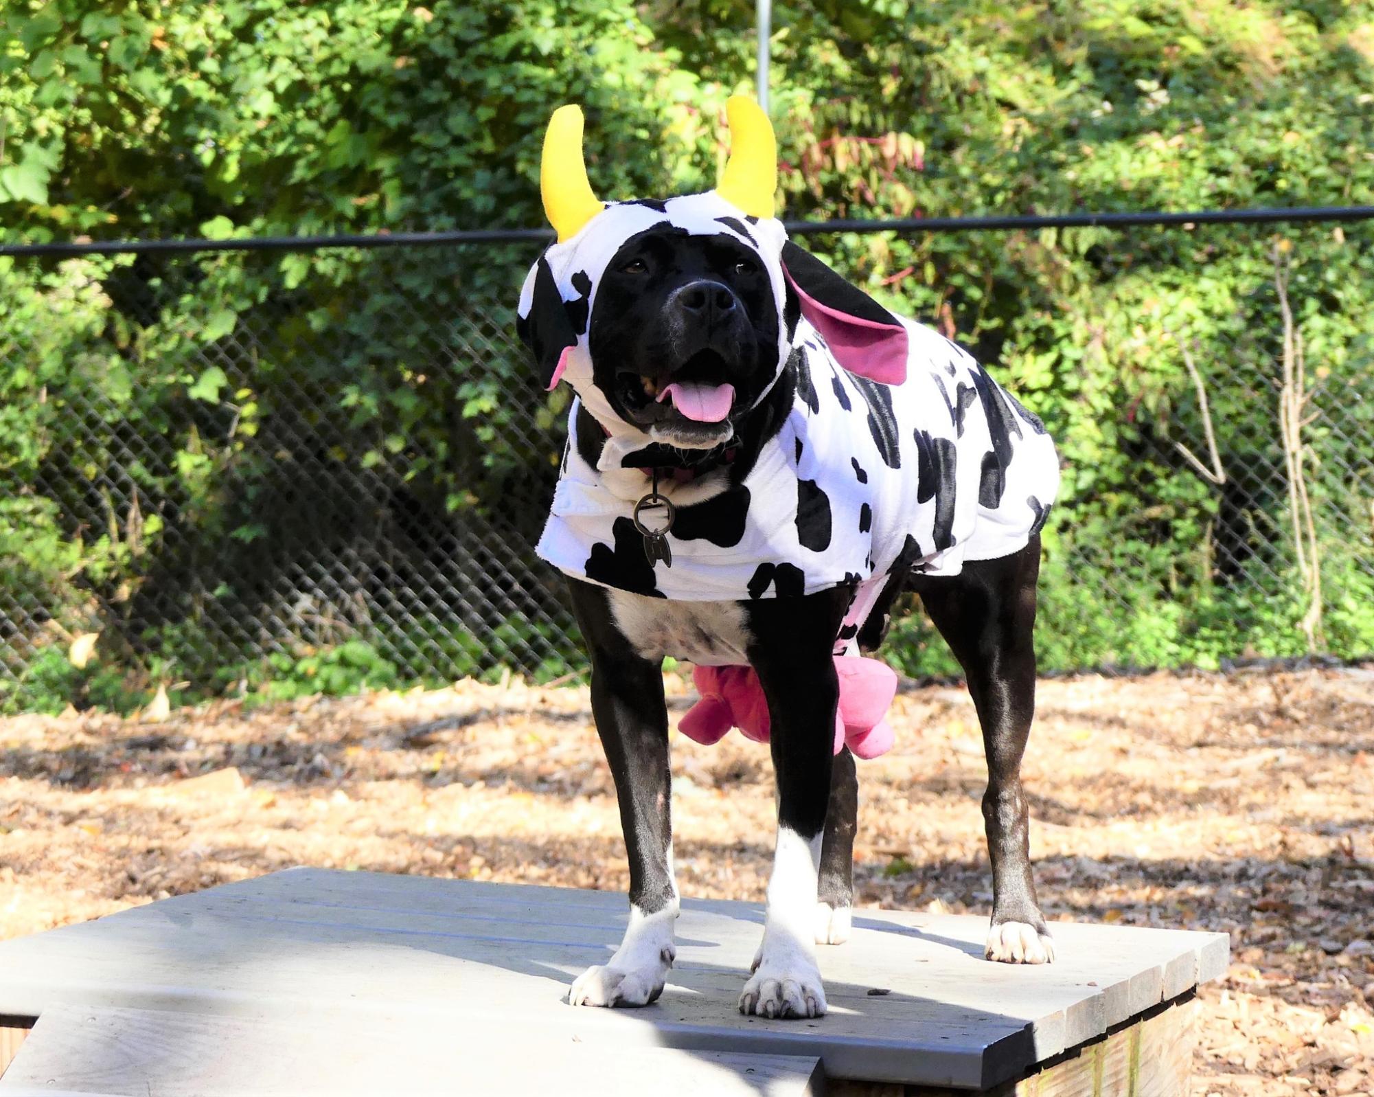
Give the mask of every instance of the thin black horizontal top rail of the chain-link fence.
[[[1135, 228], [1142, 225], [1303, 224], [1374, 220], [1374, 206], [1293, 206], [1289, 209], [1205, 209], [1187, 213], [1054, 213], [1006, 217], [901, 217], [888, 221], [840, 219], [786, 221], [793, 236], [833, 232], [989, 232], [1039, 228]], [[249, 236], [223, 241], [109, 241], [0, 243], [0, 256], [115, 256], [159, 252], [313, 252], [326, 247], [403, 247], [475, 243], [544, 243], [547, 228], [477, 228], [451, 232], [374, 232], [338, 236]]]

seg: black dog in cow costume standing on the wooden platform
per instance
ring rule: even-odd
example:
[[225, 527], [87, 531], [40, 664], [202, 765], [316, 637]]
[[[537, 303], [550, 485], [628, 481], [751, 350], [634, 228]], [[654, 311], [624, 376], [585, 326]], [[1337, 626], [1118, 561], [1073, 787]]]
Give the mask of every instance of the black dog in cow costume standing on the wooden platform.
[[962, 663], [982, 724], [987, 955], [1054, 958], [1020, 767], [1058, 465], [1040, 421], [965, 351], [787, 241], [768, 120], [742, 98], [728, 114], [717, 188], [665, 201], [594, 197], [576, 107], [544, 142], [558, 242], [525, 282], [519, 330], [541, 381], [576, 399], [539, 551], [572, 584], [631, 881], [624, 940], [570, 1002], [646, 1005], [673, 962], [673, 656], [757, 675], [778, 836], [739, 1009], [815, 1017], [815, 944], [848, 936], [852, 903], [857, 784], [835, 733], [837, 664], [881, 642], [903, 590]]

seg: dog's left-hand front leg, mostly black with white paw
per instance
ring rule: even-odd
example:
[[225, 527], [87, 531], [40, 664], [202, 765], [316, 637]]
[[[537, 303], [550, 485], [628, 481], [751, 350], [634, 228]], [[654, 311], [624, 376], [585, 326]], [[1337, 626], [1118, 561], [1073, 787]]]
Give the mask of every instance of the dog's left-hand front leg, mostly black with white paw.
[[572, 1005], [642, 1006], [655, 1001], [677, 950], [668, 708], [660, 663], [640, 657], [616, 627], [606, 594], [572, 583], [573, 606], [592, 658], [592, 716], [606, 751], [629, 855], [629, 925], [606, 964], [588, 968]]

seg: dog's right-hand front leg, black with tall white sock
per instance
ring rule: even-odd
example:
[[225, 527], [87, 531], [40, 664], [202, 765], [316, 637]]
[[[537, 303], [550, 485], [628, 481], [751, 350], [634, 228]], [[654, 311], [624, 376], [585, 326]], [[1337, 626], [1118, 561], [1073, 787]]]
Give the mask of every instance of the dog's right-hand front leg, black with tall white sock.
[[[820, 599], [820, 601], [816, 601]], [[786, 602], [812, 603], [805, 609]], [[826, 994], [816, 965], [816, 881], [820, 867], [840, 683], [831, 658], [838, 617], [833, 599], [776, 599], [750, 620], [750, 660], [772, 724], [778, 781], [778, 841], [768, 881], [764, 939], [739, 1012], [761, 1017], [819, 1017]], [[844, 614], [842, 603], [838, 614]], [[787, 621], [791, 619], [791, 627]]]

